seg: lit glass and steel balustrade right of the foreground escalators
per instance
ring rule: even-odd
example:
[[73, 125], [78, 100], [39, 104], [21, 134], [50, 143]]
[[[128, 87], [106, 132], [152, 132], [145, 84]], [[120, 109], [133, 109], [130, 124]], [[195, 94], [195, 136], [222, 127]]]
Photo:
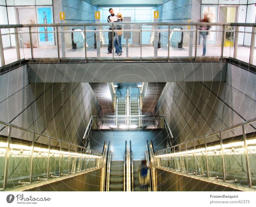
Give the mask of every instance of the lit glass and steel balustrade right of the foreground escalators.
[[[256, 118], [157, 151], [155, 166], [256, 188], [256, 136], [246, 134], [255, 122]], [[232, 131], [241, 136], [231, 136]]]

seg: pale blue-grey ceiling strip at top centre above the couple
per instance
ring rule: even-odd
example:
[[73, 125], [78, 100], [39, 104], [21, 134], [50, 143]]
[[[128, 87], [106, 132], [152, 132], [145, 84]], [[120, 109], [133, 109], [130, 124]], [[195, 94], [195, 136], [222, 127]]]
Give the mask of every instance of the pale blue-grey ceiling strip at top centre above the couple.
[[164, 4], [164, 0], [91, 0], [92, 5], [97, 5], [98, 7], [127, 7], [127, 6], [147, 6], [156, 7], [159, 4]]

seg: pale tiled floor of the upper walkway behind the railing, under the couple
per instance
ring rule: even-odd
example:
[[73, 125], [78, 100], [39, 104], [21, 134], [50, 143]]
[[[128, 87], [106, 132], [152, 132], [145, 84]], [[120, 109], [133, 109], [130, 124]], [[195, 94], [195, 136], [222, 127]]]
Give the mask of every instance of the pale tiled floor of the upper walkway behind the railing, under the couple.
[[[87, 57], [97, 57], [97, 49], [94, 48], [86, 48], [87, 49]], [[61, 49], [60, 49], [61, 50]], [[201, 45], [197, 47], [197, 56], [202, 56], [203, 48]], [[221, 48], [214, 46], [207, 46], [206, 56], [212, 57], [220, 57]], [[52, 48], [33, 48], [34, 58], [58, 58], [58, 49], [57, 47]], [[225, 46], [223, 49], [223, 56], [233, 57], [234, 47]], [[142, 57], [154, 57], [154, 48], [153, 47], [142, 47], [141, 50]], [[195, 55], [195, 47], [192, 49], [191, 56]], [[246, 47], [238, 47], [237, 49], [237, 59], [249, 62], [250, 48]], [[85, 51], [84, 48], [80, 49], [66, 49], [66, 54], [64, 55], [66, 58], [84, 58]], [[168, 48], [159, 48], [158, 49], [158, 57], [167, 57], [168, 56]], [[31, 58], [31, 49], [30, 48], [20, 48], [20, 57], [22, 58]], [[60, 51], [60, 57], [63, 57], [62, 51]], [[107, 54], [107, 47], [100, 48], [100, 56], [99, 57], [109, 57], [112, 58], [113, 54]], [[117, 56], [114, 54], [115, 58], [122, 57], [140, 57], [140, 47], [129, 47], [126, 55], [126, 47], [123, 46], [123, 54], [122, 56]], [[188, 47], [184, 46], [183, 48], [172, 48], [170, 47], [170, 58], [172, 57], [189, 57]], [[4, 61], [5, 64], [9, 64], [17, 61], [16, 49], [6, 49], [4, 50]], [[254, 52], [254, 60], [253, 64], [256, 65], [256, 52]]]

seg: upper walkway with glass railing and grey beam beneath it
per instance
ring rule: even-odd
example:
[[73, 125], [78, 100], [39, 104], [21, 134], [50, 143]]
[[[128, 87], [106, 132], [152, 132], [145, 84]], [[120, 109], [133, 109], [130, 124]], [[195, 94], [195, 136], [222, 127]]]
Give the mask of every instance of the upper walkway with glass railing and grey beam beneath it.
[[[114, 33], [111, 33], [114, 30], [109, 28], [117, 24], [122, 25], [124, 31], [121, 56], [115, 54], [115, 48], [111, 54], [107, 54], [108, 35], [114, 37]], [[227, 70], [225, 62], [234, 62], [246, 69], [255, 67], [256, 24], [207, 23], [211, 26], [208, 31], [200, 30], [203, 25], [168, 22], [0, 25], [0, 67], [4, 71], [20, 62], [29, 63], [30, 82], [61, 82], [65, 75], [63, 68], [69, 69], [70, 80], [68, 77], [66, 82], [111, 82], [113, 74], [122, 78], [127, 74], [136, 77], [152, 74], [151, 78], [146, 78], [148, 82], [223, 81]], [[205, 56], [203, 33], [207, 33]], [[136, 62], [138, 67], [131, 64], [128, 67], [130, 71], [125, 67], [123, 72], [119, 72], [124, 62], [125, 65]], [[156, 65], [152, 65], [152, 62]], [[159, 66], [159, 62], [167, 64], [161, 63]], [[113, 70], [107, 75], [110, 78], [103, 80], [98, 73], [103, 66], [108, 72], [118, 68], [118, 73]], [[164, 74], [160, 75], [161, 78], [159, 68]], [[87, 75], [84, 74], [85, 69]], [[224, 73], [220, 72], [222, 69]], [[46, 74], [45, 71], [53, 74]], [[97, 74], [94, 76], [95, 72]], [[56, 75], [59, 73], [58, 78]], [[78, 77], [75, 80], [74, 74]], [[104, 78], [106, 74], [102, 73]], [[56, 79], [51, 78], [53, 76]], [[88, 80], [84, 77], [88, 77]], [[131, 77], [127, 76], [126, 79], [115, 81], [131, 82]], [[142, 80], [139, 78], [136, 81]]]

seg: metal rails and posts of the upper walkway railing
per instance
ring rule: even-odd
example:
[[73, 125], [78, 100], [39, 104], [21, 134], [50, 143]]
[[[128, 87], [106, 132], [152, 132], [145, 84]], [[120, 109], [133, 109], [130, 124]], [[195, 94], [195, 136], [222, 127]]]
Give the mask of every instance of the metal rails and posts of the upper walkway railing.
[[[249, 34], [252, 34], [252, 40], [254, 40], [253, 39], [253, 37], [254, 37], [254, 31], [255, 31], [255, 29], [253, 29], [253, 28], [255, 28], [256, 27], [256, 24], [255, 23], [253, 23], [253, 24], [250, 24], [250, 23], [203, 23], [203, 22], [198, 22], [198, 23], [196, 23], [196, 22], [189, 22], [189, 23], [186, 23], [186, 22], [145, 22], [145, 23], [131, 23], [131, 22], [123, 22], [123, 23], [76, 23], [76, 24], [72, 24], [72, 23], [58, 23], [58, 24], [30, 24], [30, 25], [28, 25], [28, 24], [24, 24], [24, 25], [22, 25], [22, 24], [15, 24], [15, 25], [0, 25], [0, 29], [15, 29], [15, 31], [14, 31], [14, 33], [12, 32], [12, 33], [1, 33], [0, 32], [0, 37], [2, 37], [3, 35], [12, 35], [12, 34], [16, 34], [16, 36], [17, 36], [17, 38], [15, 38], [15, 43], [16, 43], [16, 45], [17, 45], [17, 47], [16, 47], [16, 54], [17, 54], [17, 60], [15, 59], [15, 60], [11, 60], [11, 63], [8, 63], [8, 65], [9, 64], [12, 64], [12, 63], [18, 63], [19, 61], [21, 61], [21, 58], [20, 58], [20, 54], [19, 54], [19, 41], [18, 41], [18, 33], [20, 33], [20, 31], [18, 31], [17, 29], [18, 28], [29, 28], [29, 32], [24, 32], [24, 33], [29, 33], [30, 34], [30, 44], [31, 45], [33, 45], [32, 44], [32, 38], [31, 38], [31, 36], [32, 36], [32, 33], [69, 33], [69, 32], [72, 32], [72, 31], [69, 31], [68, 29], [66, 30], [66, 28], [67, 27], [84, 27], [84, 30], [82, 30], [82, 32], [84, 32], [84, 36], [86, 37], [86, 32], [103, 32], [104, 31], [104, 27], [102, 27], [102, 26], [106, 26], [106, 32], [109, 32], [109, 27], [110, 28], [112, 28], [112, 32], [114, 31], [114, 26], [116, 26], [116, 25], [122, 25], [122, 26], [140, 26], [140, 29], [138, 29], [138, 30], [130, 30], [130, 29], [127, 29], [127, 30], [125, 30], [126, 32], [129, 32], [129, 31], [133, 31], [133, 32], [136, 32], [136, 31], [138, 31], [139, 33], [140, 33], [140, 39], [141, 39], [141, 33], [142, 32], [147, 32], [147, 31], [155, 31], [155, 32], [157, 32], [157, 31], [159, 31], [159, 30], [156, 30], [155, 29], [155, 27], [156, 26], [163, 26], [163, 28], [164, 29], [162, 29], [162, 30], [160, 30], [160, 31], [165, 31], [165, 32], [168, 32], [168, 35], [170, 35], [170, 32], [171, 31], [173, 31], [172, 30], [172, 28], [170, 27], [170, 26], [182, 26], [182, 27], [187, 27], [187, 26], [193, 26], [194, 28], [192, 28], [192, 27], [190, 27], [190, 29], [185, 29], [185, 30], [182, 30], [183, 32], [188, 32], [188, 33], [195, 33], [195, 34], [193, 34], [194, 35], [194, 37], [193, 37], [193, 39], [195, 38], [195, 44], [193, 44], [192, 45], [192, 47], [195, 47], [195, 53], [194, 53], [194, 55], [185, 55], [185, 56], [183, 56], [183, 58], [184, 59], [190, 59], [190, 60], [193, 60], [193, 61], [202, 61], [202, 59], [200, 58], [200, 59], [198, 59], [197, 58], [197, 36], [199, 35], [199, 31], [200, 32], [202, 32], [201, 30], [198, 30], [198, 28], [200, 27], [200, 26], [202, 26], [202, 25], [210, 25], [210, 26], [218, 26], [218, 28], [220, 28], [219, 30], [218, 30], [218, 28], [217, 28], [217, 30], [210, 30], [210, 32], [221, 32], [222, 33], [222, 37], [224, 36], [224, 34], [225, 34], [225, 32], [226, 32], [226, 30], [225, 30], [225, 26], [237, 26], [236, 28], [238, 28], [238, 26], [243, 26], [243, 27], [252, 27], [252, 32], [248, 32], [248, 31], [239, 31], [239, 30], [235, 30], [234, 31], [234, 33], [236, 34], [236, 36], [238, 36], [238, 33], [249, 33]], [[149, 28], [148, 26], [151, 26], [151, 27], [153, 27], [153, 30], [151, 29], [151, 30], [147, 30], [147, 28]], [[40, 31], [31, 31], [31, 28], [35, 28], [35, 27], [54, 27], [55, 29], [53, 30], [53, 31], [46, 31], [46, 32], [40, 32]], [[103, 28], [103, 30], [99, 30], [99, 29], [97, 29], [97, 30], [92, 30], [92, 29], [90, 29], [90, 28], [88, 28], [88, 27], [97, 27], [97, 28]], [[165, 28], [166, 27], [166, 28]], [[62, 30], [62, 28], [65, 28], [65, 31], [64, 30]], [[146, 28], [146, 30], [145, 30], [145, 28]], [[71, 29], [71, 28], [70, 28]], [[108, 29], [108, 30], [107, 30]], [[223, 39], [223, 38], [222, 38]], [[86, 41], [86, 40], [85, 40]], [[0, 41], [1, 42], [1, 41]], [[249, 59], [249, 64], [250, 65], [253, 65], [253, 42], [254, 41], [251, 41], [251, 47], [250, 47], [250, 59]], [[221, 43], [221, 52], [220, 52], [220, 55], [217, 55], [217, 56], [211, 56], [211, 58], [214, 58], [214, 59], [216, 59], [217, 61], [218, 61], [218, 58], [219, 58], [219, 61], [220, 61], [220, 58], [223, 58], [223, 41], [222, 41], [222, 43]], [[234, 49], [234, 59], [235, 60], [238, 60], [238, 59], [236, 59], [237, 58], [237, 56], [236, 56], [236, 53], [237, 53], [237, 41], [235, 41], [235, 49]], [[45, 61], [47, 61], [47, 60], [49, 60], [49, 61], [55, 61], [55, 60], [66, 60], [66, 59], [68, 59], [67, 57], [60, 57], [60, 47], [59, 47], [59, 45], [60, 45], [60, 40], [59, 40], [59, 35], [57, 35], [57, 39], [56, 39], [56, 45], [57, 45], [57, 47], [58, 47], [58, 57], [56, 57], [56, 58], [52, 58], [52, 59], [49, 59], [49, 58], [44, 58], [44, 57], [40, 57], [40, 58], [35, 58], [34, 57], [34, 52], [33, 52], [33, 47], [30, 47], [30, 49], [31, 49], [31, 58], [23, 58], [22, 59], [22, 61], [23, 60], [32, 60], [32, 62], [37, 62], [39, 59], [40, 60], [45, 60]], [[51, 46], [51, 47], [56, 47], [56, 45], [55, 46]], [[138, 57], [125, 57], [125, 58], [121, 58], [120, 60], [133, 60], [133, 61], [144, 61], [144, 57], [142, 56], [142, 50], [141, 50], [141, 46], [142, 46], [142, 43], [141, 43], [141, 41], [140, 41], [140, 56], [138, 56]], [[153, 59], [156, 59], [156, 60], [162, 60], [162, 61], [175, 61], [176, 60], [176, 58], [174, 58], [173, 56], [170, 56], [171, 54], [169, 53], [169, 47], [168, 47], [168, 54], [167, 54], [167, 56], [166, 55], [164, 55], [164, 56], [158, 56], [157, 55], [157, 52], [156, 52], [156, 54], [154, 54], [155, 56], [153, 57], [153, 58], [151, 58], [152, 60]], [[1, 64], [2, 64], [2, 68], [3, 68], [3, 70], [5, 69], [5, 66], [7, 65], [6, 64], [6, 61], [4, 60], [4, 54], [3, 54], [3, 44], [0, 44], [0, 53], [1, 53], [1, 56], [2, 56], [2, 59], [1, 59]], [[226, 57], [226, 56], [225, 56]], [[88, 61], [101, 61], [102, 60], [102, 58], [104, 58], [104, 57], [99, 57], [99, 56], [97, 56], [97, 57], [95, 57], [95, 58], [88, 58], [87, 57], [87, 50], [86, 50], [86, 47], [85, 47], [85, 56], [84, 56], [84, 58], [82, 57], [82, 59], [81, 59], [81, 61], [85, 61], [85, 62], [88, 62]], [[107, 57], [105, 57], [105, 58], [107, 58]], [[140, 58], [140, 59], [138, 59], [138, 58]], [[191, 59], [192, 58], [192, 59]], [[207, 57], [204, 57], [204, 58], [207, 58]], [[70, 59], [70, 58], [69, 58]], [[108, 58], [109, 59], [109, 58]], [[116, 57], [114, 56], [114, 54], [113, 54], [113, 56], [110, 58], [111, 59], [111, 61], [113, 61], [113, 62], [115, 62], [116, 61]], [[240, 58], [241, 59], [241, 58]], [[75, 59], [75, 60], [78, 60], [78, 59]], [[147, 59], [147, 57], [145, 57], [145, 60], [148, 60]], [[109, 60], [108, 60], [109, 61]]]

